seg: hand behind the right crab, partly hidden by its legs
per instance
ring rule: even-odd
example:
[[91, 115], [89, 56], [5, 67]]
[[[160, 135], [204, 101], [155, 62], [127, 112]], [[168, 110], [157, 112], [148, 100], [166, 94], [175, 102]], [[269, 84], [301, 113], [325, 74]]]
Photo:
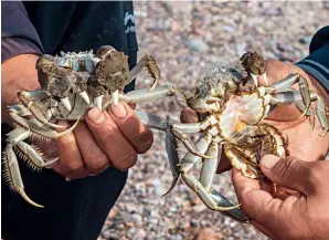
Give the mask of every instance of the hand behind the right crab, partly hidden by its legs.
[[[266, 72], [269, 84], [286, 77], [290, 73], [301, 74], [308, 81], [310, 88], [319, 92], [325, 101], [327, 101], [327, 105], [329, 105], [329, 95], [321, 87], [321, 84], [319, 84], [314, 77], [309, 76], [300, 67], [289, 63], [267, 60]], [[298, 87], [297, 84], [294, 87]], [[288, 152], [291, 156], [296, 156], [303, 160], [325, 159], [329, 150], [329, 135], [325, 137], [319, 136], [319, 134], [322, 133], [322, 128], [317, 117], [315, 117], [316, 125], [314, 132], [311, 133], [309, 117], [299, 118], [301, 112], [295, 106], [295, 104], [283, 105], [276, 107], [264, 123], [274, 125], [282, 131], [285, 137], [288, 138]], [[198, 122], [198, 115], [190, 108], [184, 108], [181, 112], [181, 122]], [[230, 160], [222, 155], [217, 173], [223, 173], [230, 170], [232, 166]], [[278, 187], [277, 190], [279, 192], [283, 189]]]

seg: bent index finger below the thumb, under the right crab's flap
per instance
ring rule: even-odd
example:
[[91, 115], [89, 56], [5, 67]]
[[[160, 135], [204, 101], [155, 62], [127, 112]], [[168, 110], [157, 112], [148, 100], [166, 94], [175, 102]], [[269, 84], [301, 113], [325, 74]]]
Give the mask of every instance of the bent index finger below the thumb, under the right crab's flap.
[[268, 192], [261, 190], [257, 180], [243, 176], [236, 168], [232, 169], [232, 181], [245, 215], [256, 222], [270, 226], [270, 221], [279, 215], [282, 200], [274, 199]]

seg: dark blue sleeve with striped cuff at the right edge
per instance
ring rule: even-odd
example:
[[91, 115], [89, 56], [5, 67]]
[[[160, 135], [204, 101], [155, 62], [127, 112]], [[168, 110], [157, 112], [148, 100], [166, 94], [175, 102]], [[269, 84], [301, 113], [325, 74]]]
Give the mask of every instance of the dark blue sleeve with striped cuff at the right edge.
[[329, 25], [314, 35], [309, 51], [310, 54], [296, 65], [316, 77], [329, 91]]

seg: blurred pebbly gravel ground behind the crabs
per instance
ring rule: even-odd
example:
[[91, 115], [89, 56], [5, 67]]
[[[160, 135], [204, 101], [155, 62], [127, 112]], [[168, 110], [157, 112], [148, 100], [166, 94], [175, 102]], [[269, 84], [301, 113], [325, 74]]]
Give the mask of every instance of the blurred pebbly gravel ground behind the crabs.
[[[140, 56], [155, 54], [162, 71], [160, 84], [184, 91], [206, 64], [225, 62], [241, 69], [238, 58], [248, 50], [266, 59], [303, 59], [328, 14], [329, 2], [135, 2]], [[150, 85], [150, 80], [137, 83], [138, 88]], [[138, 108], [179, 119], [180, 108], [170, 98]], [[161, 198], [172, 179], [163, 140], [155, 131], [152, 148], [129, 171], [98, 240], [191, 240], [204, 228], [214, 229], [216, 239], [267, 239], [252, 226], [206, 209], [182, 181]], [[230, 173], [216, 176], [214, 188], [236, 202]]]

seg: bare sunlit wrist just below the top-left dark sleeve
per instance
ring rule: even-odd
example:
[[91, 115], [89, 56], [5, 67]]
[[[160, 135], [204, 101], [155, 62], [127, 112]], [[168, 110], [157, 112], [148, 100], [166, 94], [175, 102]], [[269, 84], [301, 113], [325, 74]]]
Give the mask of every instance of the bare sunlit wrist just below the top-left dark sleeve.
[[40, 88], [35, 62], [38, 55], [21, 54], [1, 64], [1, 121], [10, 124], [8, 106], [18, 103], [18, 91]]

